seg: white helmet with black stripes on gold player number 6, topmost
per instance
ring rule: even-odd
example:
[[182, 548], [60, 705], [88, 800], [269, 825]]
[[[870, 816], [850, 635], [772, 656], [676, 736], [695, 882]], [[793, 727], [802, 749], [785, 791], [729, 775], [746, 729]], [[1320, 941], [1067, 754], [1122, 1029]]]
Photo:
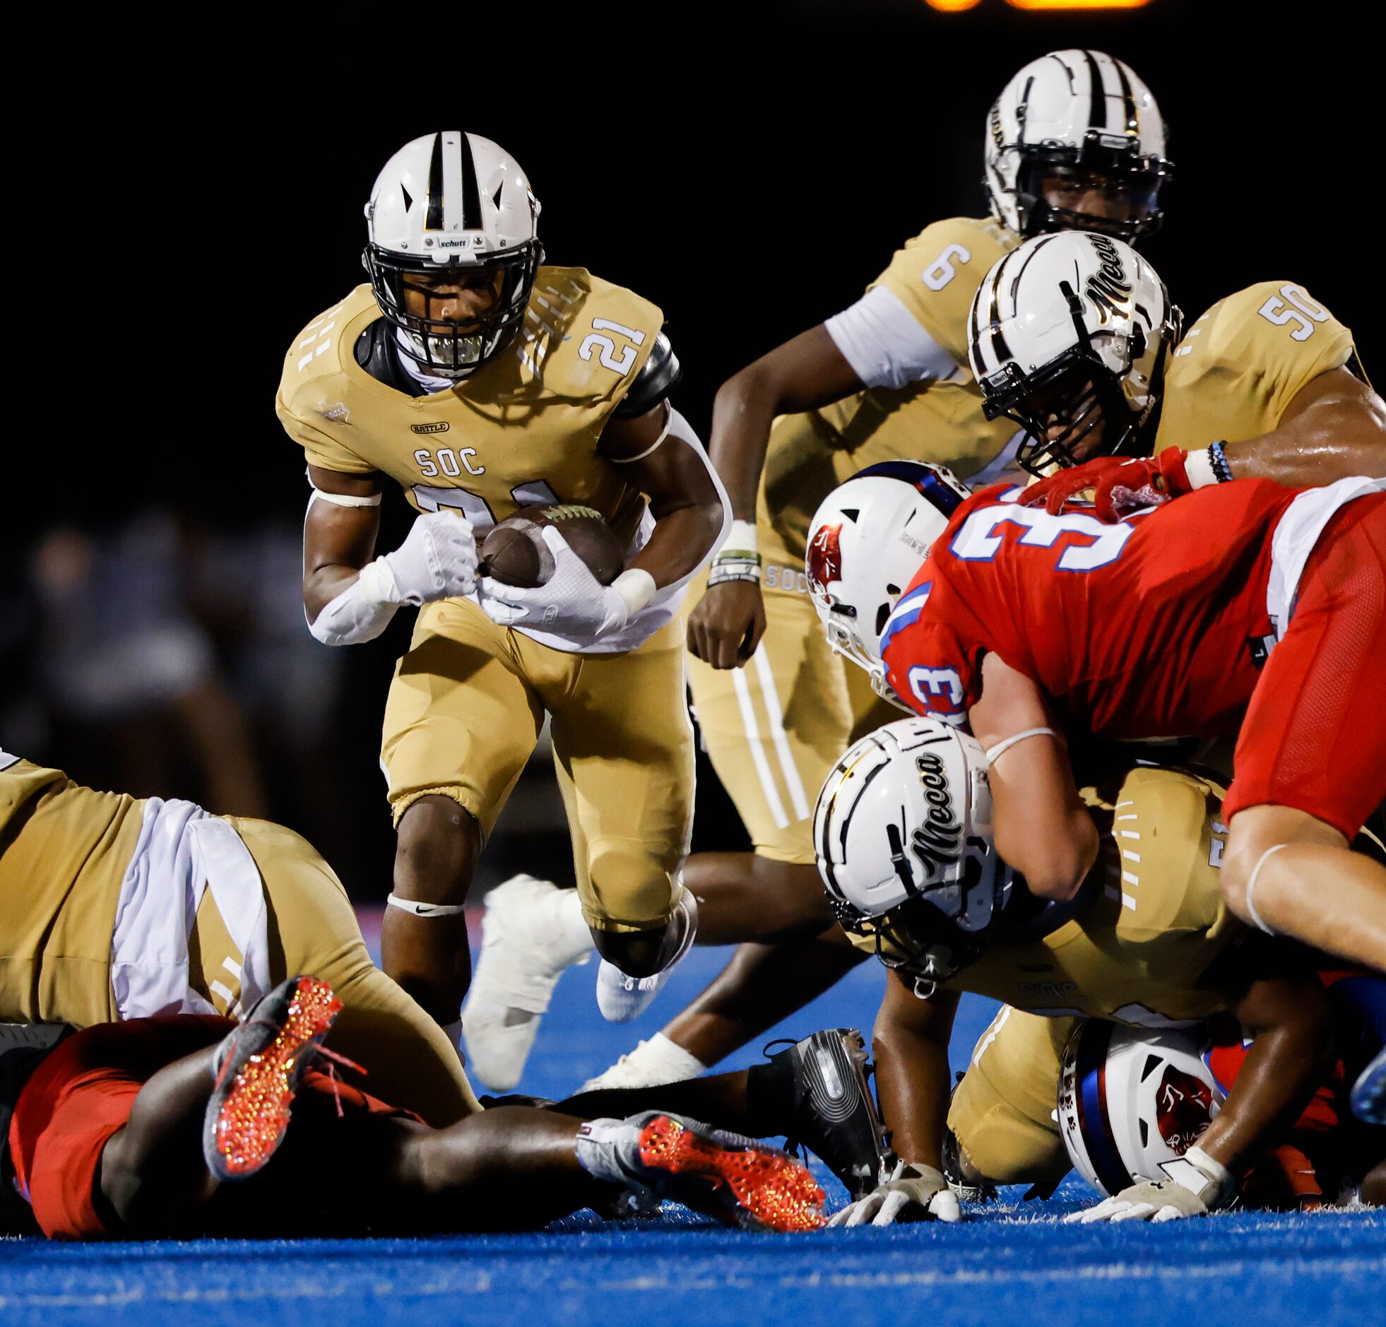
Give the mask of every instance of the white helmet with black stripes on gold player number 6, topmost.
[[[1006, 83], [987, 115], [985, 162], [992, 215], [1026, 238], [1069, 229], [1152, 234], [1174, 171], [1150, 89], [1130, 65], [1085, 50], [1051, 51]], [[1095, 184], [1121, 215], [1082, 208]], [[1076, 205], [1055, 201], [1064, 197]]]

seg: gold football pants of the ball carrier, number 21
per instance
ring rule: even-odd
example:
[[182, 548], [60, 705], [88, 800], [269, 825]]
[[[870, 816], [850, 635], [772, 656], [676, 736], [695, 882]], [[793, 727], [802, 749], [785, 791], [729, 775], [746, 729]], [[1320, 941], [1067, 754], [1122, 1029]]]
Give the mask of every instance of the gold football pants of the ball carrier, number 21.
[[570, 654], [466, 599], [427, 605], [385, 702], [395, 824], [441, 793], [489, 836], [547, 711], [588, 925], [663, 926], [693, 818], [682, 639], [675, 620], [628, 653]]

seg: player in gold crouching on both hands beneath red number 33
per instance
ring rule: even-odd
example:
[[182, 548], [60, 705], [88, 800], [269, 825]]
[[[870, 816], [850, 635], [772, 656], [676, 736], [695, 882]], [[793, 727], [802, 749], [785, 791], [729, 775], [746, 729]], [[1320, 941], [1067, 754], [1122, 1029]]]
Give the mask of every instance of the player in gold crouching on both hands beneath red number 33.
[[[998, 857], [980, 745], [937, 720], [858, 742], [819, 796], [815, 840], [852, 942], [891, 969], [876, 1023], [881, 1116], [901, 1169], [834, 1220], [956, 1220], [945, 1173], [1048, 1191], [1069, 1159], [1052, 1120], [1078, 1022], [1188, 1025], [1234, 1014], [1246, 1066], [1170, 1179], [1096, 1212], [1186, 1216], [1227, 1206], [1239, 1177], [1295, 1123], [1333, 1054], [1333, 1012], [1307, 954], [1246, 930], [1218, 885], [1221, 789], [1131, 757], [1084, 790], [1100, 856], [1045, 904]], [[1002, 1000], [949, 1105], [959, 993]], [[1159, 1199], [1149, 1212], [1137, 1212]]]

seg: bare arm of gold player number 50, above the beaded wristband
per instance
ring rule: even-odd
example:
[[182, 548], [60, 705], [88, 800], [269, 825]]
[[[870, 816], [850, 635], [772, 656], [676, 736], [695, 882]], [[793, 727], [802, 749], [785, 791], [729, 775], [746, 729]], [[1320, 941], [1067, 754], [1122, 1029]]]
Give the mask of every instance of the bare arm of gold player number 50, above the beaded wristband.
[[1274, 433], [1224, 446], [1234, 478], [1296, 488], [1386, 474], [1386, 405], [1375, 394], [1321, 397]]

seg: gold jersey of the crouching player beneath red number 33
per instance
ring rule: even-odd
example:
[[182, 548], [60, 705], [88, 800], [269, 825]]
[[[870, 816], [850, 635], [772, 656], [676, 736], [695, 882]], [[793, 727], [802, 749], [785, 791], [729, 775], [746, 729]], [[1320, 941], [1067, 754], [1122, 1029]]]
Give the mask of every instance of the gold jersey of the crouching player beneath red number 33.
[[1042, 939], [992, 944], [947, 989], [1049, 1018], [1132, 1026], [1228, 1008], [1238, 982], [1224, 951], [1242, 935], [1218, 882], [1221, 793], [1179, 770], [1137, 767], [1084, 789], [1102, 833], [1094, 897]]

